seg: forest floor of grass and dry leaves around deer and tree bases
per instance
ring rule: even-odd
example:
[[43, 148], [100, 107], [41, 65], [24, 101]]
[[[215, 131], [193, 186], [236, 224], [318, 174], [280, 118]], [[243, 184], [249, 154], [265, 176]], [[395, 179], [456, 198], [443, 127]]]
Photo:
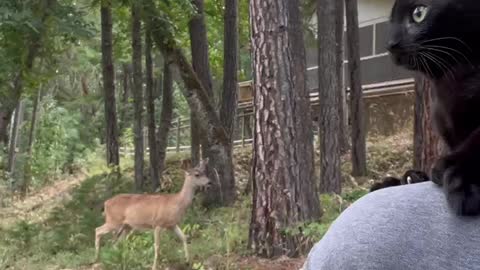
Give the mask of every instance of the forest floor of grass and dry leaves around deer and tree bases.
[[[373, 179], [387, 174], [399, 175], [410, 166], [411, 134], [376, 138], [368, 143], [371, 175], [363, 179], [348, 176], [350, 165], [344, 158], [343, 171], [348, 180], [338, 201], [322, 195], [324, 216], [310, 226], [304, 235], [313, 242], [321, 239], [330, 223], [351, 203], [367, 192]], [[163, 192], [179, 189], [183, 172], [181, 155], [168, 158], [171, 185]], [[249, 177], [251, 151], [235, 153], [239, 198], [233, 207], [205, 210], [194, 202], [182, 229], [190, 241], [193, 266], [184, 266], [181, 243], [165, 234], [161, 243], [163, 269], [299, 269], [304, 258], [267, 260], [252, 256], [247, 249], [251, 198], [243, 195]], [[113, 245], [104, 241], [101, 267], [92, 264], [95, 227], [103, 223], [103, 201], [131, 189], [131, 168], [121, 179], [106, 172], [79, 173], [56, 181], [29, 194], [24, 200], [10, 201], [0, 207], [0, 270], [2, 269], [149, 269], [153, 260], [153, 237], [150, 233], [134, 234], [128, 241]], [[109, 187], [114, 187], [113, 190]], [[201, 194], [199, 198], [201, 199]], [[197, 201], [196, 199], [196, 201]]]

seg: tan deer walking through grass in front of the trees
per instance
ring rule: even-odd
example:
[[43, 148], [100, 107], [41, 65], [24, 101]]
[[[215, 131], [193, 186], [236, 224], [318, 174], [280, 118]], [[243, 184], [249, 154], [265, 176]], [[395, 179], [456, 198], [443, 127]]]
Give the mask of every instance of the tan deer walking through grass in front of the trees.
[[179, 227], [187, 208], [192, 204], [195, 190], [208, 187], [206, 167], [208, 158], [189, 170], [180, 192], [174, 194], [119, 194], [104, 202], [105, 223], [95, 229], [95, 262], [99, 261], [102, 236], [115, 233], [115, 238], [132, 231], [153, 230], [155, 257], [152, 269], [157, 269], [160, 233], [173, 231], [182, 241], [185, 259], [190, 262], [187, 238]]

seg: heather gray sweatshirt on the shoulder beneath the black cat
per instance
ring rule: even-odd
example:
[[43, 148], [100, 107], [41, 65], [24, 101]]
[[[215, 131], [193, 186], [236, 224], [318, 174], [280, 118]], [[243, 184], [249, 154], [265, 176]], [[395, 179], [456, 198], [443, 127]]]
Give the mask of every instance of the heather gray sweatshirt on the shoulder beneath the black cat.
[[385, 188], [346, 209], [304, 270], [480, 269], [480, 217], [450, 212], [431, 182]]

